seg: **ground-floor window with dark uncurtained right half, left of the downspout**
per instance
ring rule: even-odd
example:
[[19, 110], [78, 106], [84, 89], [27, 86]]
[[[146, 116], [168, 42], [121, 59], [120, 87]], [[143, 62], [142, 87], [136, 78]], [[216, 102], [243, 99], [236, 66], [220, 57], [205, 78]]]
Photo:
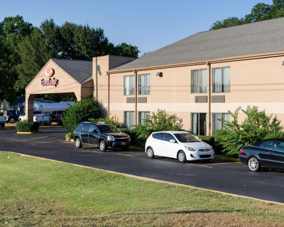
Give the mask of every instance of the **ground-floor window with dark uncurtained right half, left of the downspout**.
[[206, 113], [191, 113], [191, 132], [206, 135]]

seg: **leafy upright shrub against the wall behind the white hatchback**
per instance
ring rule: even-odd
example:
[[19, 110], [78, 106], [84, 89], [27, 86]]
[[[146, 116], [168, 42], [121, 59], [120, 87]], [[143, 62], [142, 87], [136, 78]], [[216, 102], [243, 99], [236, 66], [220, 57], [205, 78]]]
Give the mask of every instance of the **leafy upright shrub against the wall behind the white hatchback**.
[[144, 124], [138, 124], [132, 130], [136, 132], [137, 139], [146, 141], [152, 132], [181, 131], [181, 122], [182, 120], [176, 114], [169, 115], [165, 110], [158, 109], [157, 113], [152, 113], [144, 119]]

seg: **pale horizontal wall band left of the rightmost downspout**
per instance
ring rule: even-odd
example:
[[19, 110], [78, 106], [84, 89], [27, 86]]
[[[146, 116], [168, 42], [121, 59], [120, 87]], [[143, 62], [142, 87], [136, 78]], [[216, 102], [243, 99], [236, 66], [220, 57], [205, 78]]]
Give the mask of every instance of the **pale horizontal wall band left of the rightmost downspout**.
[[[130, 110], [130, 105], [135, 109], [134, 103], [110, 103], [112, 110]], [[157, 111], [162, 109], [167, 112], [205, 112], [208, 111], [208, 103], [137, 103], [137, 111]]]

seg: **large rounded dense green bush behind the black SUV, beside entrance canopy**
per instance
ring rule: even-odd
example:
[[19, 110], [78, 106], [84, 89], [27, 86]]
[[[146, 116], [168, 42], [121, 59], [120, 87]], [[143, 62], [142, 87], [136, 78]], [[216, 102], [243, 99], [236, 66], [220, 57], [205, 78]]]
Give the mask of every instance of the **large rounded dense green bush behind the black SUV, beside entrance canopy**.
[[87, 98], [82, 98], [74, 106], [70, 106], [65, 110], [63, 124], [67, 131], [73, 134], [73, 131], [80, 122], [98, 119], [99, 117], [99, 103], [89, 95]]

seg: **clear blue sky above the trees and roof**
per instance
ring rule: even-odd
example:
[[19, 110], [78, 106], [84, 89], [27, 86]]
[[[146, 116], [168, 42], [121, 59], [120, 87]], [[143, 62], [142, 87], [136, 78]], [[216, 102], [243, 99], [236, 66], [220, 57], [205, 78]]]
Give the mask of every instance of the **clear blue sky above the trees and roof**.
[[272, 0], [1, 0], [0, 21], [19, 14], [34, 26], [46, 18], [59, 25], [89, 24], [103, 28], [110, 42], [129, 43], [143, 53], [209, 30], [217, 20], [243, 17], [259, 2], [272, 4]]

